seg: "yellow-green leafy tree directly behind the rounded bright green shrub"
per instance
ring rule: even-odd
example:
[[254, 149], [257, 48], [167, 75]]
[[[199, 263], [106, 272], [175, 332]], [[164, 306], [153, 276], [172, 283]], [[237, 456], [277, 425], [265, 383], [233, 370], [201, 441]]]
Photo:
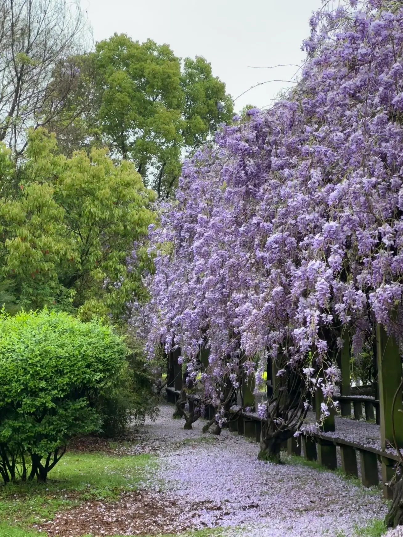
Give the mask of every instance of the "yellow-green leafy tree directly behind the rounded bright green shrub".
[[114, 165], [105, 149], [60, 155], [45, 129], [31, 131], [26, 155], [19, 187], [10, 188], [10, 151], [0, 151], [1, 277], [15, 284], [20, 306], [118, 317], [129, 297], [145, 293], [154, 193], [132, 163]]

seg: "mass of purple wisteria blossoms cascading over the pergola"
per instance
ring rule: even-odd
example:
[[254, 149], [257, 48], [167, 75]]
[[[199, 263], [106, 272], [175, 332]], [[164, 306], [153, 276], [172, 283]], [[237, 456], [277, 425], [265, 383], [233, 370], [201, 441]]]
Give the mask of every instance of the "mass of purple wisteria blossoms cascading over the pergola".
[[180, 346], [195, 380], [206, 344], [218, 397], [239, 349], [258, 382], [262, 351], [282, 353], [331, 397], [343, 334], [358, 355], [400, 318], [403, 9], [351, 0], [310, 23], [296, 88], [186, 161], [152, 231], [148, 352]]

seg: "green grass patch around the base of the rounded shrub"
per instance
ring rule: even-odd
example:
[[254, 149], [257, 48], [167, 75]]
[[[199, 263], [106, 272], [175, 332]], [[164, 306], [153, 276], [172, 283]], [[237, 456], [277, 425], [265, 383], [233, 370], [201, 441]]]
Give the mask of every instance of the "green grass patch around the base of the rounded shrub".
[[[156, 465], [156, 459], [151, 455], [111, 457], [102, 453], [67, 453], [51, 471], [46, 484], [0, 486], [0, 524], [18, 524], [24, 528], [51, 520], [57, 511], [84, 500], [112, 501], [121, 492], [139, 488], [146, 468], [152, 465]], [[17, 528], [8, 531], [17, 532]], [[0, 532], [0, 535], [7, 534]], [[10, 533], [10, 537], [25, 535], [31, 537], [30, 533]]]

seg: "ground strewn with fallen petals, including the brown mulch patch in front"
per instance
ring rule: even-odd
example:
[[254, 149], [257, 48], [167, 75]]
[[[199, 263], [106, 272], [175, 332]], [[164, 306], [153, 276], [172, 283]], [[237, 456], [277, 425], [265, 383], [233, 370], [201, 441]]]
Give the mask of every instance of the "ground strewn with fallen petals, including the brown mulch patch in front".
[[127, 492], [118, 502], [91, 500], [60, 512], [41, 531], [50, 537], [178, 535], [221, 527], [227, 537], [352, 537], [386, 514], [380, 489], [291, 460], [265, 464], [257, 460], [256, 442], [228, 430], [203, 434], [201, 420], [185, 431], [173, 411], [162, 405], [156, 421], [133, 431], [131, 441], [116, 450], [104, 446], [112, 456], [158, 455], [147, 490]]

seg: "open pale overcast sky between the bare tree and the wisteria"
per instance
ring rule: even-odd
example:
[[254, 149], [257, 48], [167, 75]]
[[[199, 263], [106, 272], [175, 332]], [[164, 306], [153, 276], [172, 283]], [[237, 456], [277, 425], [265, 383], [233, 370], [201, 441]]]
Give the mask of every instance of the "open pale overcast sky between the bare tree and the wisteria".
[[[95, 41], [126, 33], [140, 42], [168, 43], [180, 57], [204, 56], [236, 98], [258, 82], [289, 80], [295, 74], [297, 67], [248, 66], [301, 64], [308, 19], [321, 0], [81, 0], [81, 6]], [[263, 84], [236, 100], [235, 109], [270, 106], [291, 85]]]

